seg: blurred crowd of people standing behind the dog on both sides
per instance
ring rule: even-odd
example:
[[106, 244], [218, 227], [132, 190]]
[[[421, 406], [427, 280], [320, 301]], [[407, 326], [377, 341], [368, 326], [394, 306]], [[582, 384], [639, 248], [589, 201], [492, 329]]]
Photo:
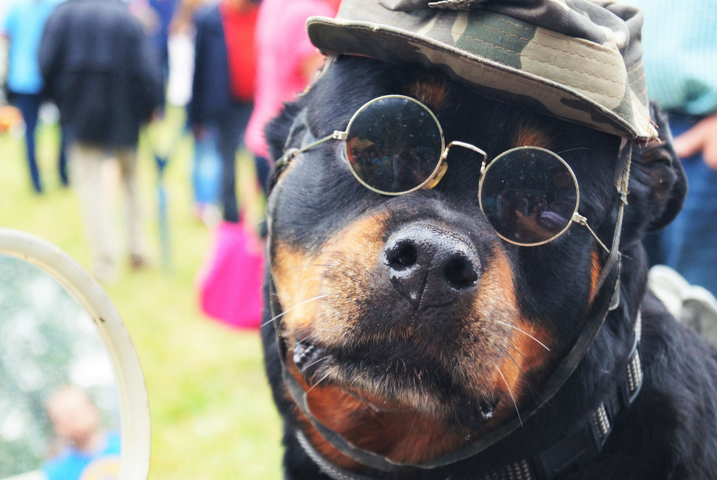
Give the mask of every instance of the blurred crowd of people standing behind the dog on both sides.
[[[116, 272], [113, 219], [100, 176], [120, 165], [126, 191], [130, 264], [148, 264], [137, 193], [136, 150], [143, 125], [166, 103], [186, 107], [194, 138], [196, 215], [221, 218], [227, 236], [241, 224], [235, 159], [246, 148], [265, 188], [271, 158], [263, 128], [304, 90], [323, 56], [305, 32], [308, 16], [334, 16], [339, 0], [9, 0], [6, 100], [22, 115], [32, 188], [42, 194], [34, 131], [52, 101], [62, 129], [60, 182], [82, 205], [92, 272]], [[648, 239], [652, 263], [670, 265], [717, 294], [717, 4], [627, 0], [645, 11], [648, 93], [668, 110], [692, 190], [685, 211]], [[19, 112], [19, 114], [17, 113]], [[158, 165], [163, 163], [158, 155]], [[708, 219], [708, 220], [706, 220]], [[239, 247], [232, 247], [239, 248]], [[244, 247], [242, 247], [244, 248]], [[227, 277], [228, 278], [228, 277]], [[224, 281], [228, 281], [226, 278]]]

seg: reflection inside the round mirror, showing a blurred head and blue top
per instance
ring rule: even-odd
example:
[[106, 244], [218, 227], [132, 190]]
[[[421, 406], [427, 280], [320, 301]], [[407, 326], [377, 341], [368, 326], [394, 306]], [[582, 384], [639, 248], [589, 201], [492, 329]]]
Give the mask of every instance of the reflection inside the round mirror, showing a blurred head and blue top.
[[115, 479], [119, 420], [92, 318], [42, 269], [0, 254], [0, 479]]

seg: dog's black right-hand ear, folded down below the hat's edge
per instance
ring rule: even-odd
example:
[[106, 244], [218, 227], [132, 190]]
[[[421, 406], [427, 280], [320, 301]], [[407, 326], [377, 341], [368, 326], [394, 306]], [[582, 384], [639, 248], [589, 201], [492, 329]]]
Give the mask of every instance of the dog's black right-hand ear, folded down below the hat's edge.
[[657, 124], [660, 140], [652, 140], [635, 152], [649, 178], [652, 217], [648, 232], [668, 226], [682, 210], [687, 195], [687, 178], [673, 147], [668, 116], [654, 102], [650, 102], [650, 116]]

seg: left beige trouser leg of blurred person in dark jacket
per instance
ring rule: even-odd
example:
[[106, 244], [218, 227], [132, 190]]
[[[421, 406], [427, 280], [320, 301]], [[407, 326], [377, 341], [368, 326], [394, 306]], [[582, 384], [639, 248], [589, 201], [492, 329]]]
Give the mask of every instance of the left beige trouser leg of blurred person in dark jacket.
[[109, 198], [103, 185], [103, 150], [79, 142], [68, 148], [70, 179], [80, 198], [87, 239], [90, 241], [92, 274], [100, 281], [113, 279], [115, 261]]

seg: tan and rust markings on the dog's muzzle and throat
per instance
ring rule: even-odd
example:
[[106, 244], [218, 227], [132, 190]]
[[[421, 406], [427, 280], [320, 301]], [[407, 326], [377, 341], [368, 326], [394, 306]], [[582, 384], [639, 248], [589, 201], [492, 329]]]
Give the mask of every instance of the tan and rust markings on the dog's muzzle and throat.
[[[383, 234], [383, 219], [366, 216], [313, 255], [276, 245], [272, 274], [286, 312], [282, 322], [287, 363], [308, 392], [309, 408], [321, 423], [354, 445], [394, 461], [424, 463], [480, 438], [516, 415], [512, 398], [521, 405], [526, 396], [524, 375], [541, 368], [549, 358], [549, 352], [536, 340], [549, 346], [550, 336], [521, 317], [511, 262], [505, 251], [496, 247], [481, 274], [479, 292], [457, 343], [450, 347], [432, 342], [424, 345], [431, 357], [454, 373], [470, 396], [480, 400], [498, 395], [493, 418], [478, 431], [448, 426], [451, 407], [440, 403], [434, 393], [402, 391], [388, 401], [371, 393], [376, 387], [369, 375], [358, 374], [348, 381], [328, 364], [322, 373], [325, 378], [309, 387], [292, 361], [295, 336], [300, 333], [300, 337], [314, 337], [323, 345], [338, 347], [351, 342], [351, 326], [362, 313], [360, 305], [370, 299], [371, 269], [383, 248]], [[311, 300], [320, 295], [326, 297]], [[405, 340], [413, 334], [411, 330], [405, 326], [383, 332], [376, 341]], [[297, 415], [309, 441], [327, 460], [361, 471], [359, 464], [328, 443], [298, 410]]]

